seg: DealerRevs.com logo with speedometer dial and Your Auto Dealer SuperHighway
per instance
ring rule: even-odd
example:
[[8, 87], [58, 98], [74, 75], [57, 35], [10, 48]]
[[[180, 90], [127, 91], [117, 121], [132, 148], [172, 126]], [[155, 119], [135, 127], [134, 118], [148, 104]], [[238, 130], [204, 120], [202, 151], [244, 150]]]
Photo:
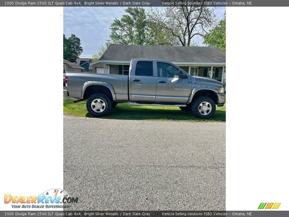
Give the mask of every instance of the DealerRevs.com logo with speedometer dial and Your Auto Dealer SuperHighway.
[[78, 203], [78, 197], [71, 197], [70, 193], [61, 188], [47, 190], [38, 196], [4, 195], [4, 203], [11, 203], [12, 208], [70, 208]]

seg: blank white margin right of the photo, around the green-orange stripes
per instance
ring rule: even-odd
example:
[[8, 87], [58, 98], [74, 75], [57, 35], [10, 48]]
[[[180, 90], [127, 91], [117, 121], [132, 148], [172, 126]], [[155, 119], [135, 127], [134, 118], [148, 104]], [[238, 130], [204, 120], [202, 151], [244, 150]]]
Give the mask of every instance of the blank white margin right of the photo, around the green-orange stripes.
[[289, 210], [288, 21], [286, 7], [226, 8], [227, 210]]

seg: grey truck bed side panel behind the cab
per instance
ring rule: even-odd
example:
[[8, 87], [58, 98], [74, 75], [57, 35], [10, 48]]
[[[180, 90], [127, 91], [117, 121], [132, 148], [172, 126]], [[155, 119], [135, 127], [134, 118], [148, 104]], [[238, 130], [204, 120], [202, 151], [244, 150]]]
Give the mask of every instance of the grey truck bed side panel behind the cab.
[[116, 74], [96, 74], [85, 72], [67, 72], [68, 87], [70, 97], [81, 98], [83, 84], [87, 81], [99, 81], [110, 83], [116, 95], [116, 101], [127, 102], [128, 99], [128, 79], [127, 75]]

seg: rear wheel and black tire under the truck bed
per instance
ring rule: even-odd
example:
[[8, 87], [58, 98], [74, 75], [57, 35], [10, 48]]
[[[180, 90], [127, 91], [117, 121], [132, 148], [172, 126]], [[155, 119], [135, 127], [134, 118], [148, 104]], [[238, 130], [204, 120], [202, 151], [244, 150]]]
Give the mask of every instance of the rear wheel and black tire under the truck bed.
[[[92, 105], [92, 102], [98, 103], [97, 106], [101, 106], [102, 104], [102, 107], [97, 108], [96, 105]], [[94, 109], [92, 107], [94, 107]], [[104, 94], [100, 94], [100, 93], [93, 94], [92, 96], [88, 98], [86, 102], [86, 109], [89, 112], [89, 114], [91, 114], [92, 116], [101, 117], [101, 116], [107, 115], [110, 112], [111, 101]]]

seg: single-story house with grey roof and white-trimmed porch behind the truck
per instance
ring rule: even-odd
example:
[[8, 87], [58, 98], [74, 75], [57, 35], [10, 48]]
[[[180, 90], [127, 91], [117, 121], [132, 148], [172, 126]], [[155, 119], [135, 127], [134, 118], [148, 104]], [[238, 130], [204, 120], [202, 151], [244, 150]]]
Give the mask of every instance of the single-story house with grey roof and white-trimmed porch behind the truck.
[[226, 52], [217, 47], [110, 44], [99, 62], [91, 63], [90, 68], [93, 70], [101, 67], [105, 74], [128, 75], [131, 59], [166, 60], [176, 64], [190, 75], [210, 77], [225, 82]]

